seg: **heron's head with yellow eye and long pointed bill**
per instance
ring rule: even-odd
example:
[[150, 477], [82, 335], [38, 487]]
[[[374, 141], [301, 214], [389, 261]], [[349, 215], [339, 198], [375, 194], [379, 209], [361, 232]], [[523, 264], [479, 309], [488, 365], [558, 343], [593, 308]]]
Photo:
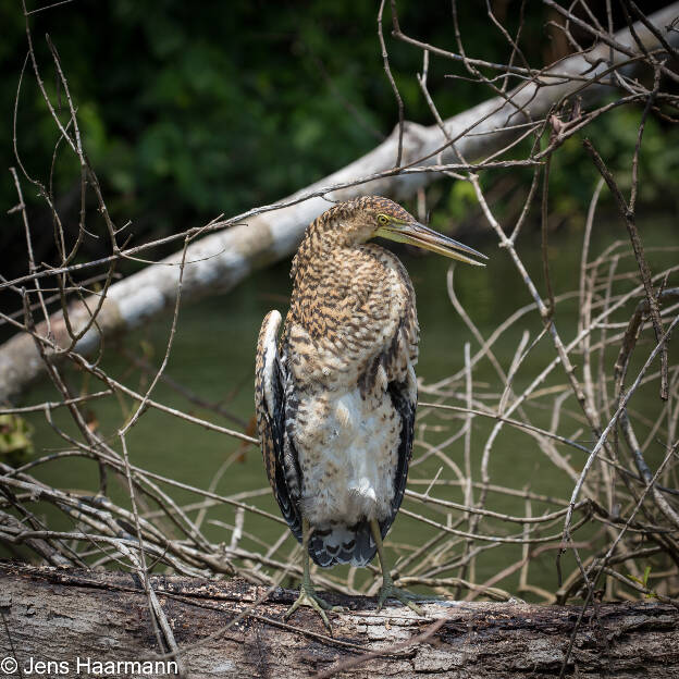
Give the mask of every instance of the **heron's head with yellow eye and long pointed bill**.
[[471, 259], [471, 257], [487, 259], [485, 255], [420, 224], [407, 210], [388, 198], [366, 196], [356, 202], [365, 215], [366, 229], [370, 229], [370, 232], [366, 233], [366, 239], [381, 236], [388, 240], [415, 245], [467, 264], [485, 267], [484, 262]]

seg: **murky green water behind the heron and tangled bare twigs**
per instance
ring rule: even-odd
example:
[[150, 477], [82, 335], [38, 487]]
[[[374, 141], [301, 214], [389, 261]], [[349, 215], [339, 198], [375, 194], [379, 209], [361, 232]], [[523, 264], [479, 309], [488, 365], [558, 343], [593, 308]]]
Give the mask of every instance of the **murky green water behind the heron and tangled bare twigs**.
[[[670, 220], [654, 220], [651, 226], [649, 226], [647, 232], [644, 231], [646, 248], [667, 247], [668, 244], [679, 245], [677, 227]], [[594, 234], [590, 259], [598, 255], [614, 239], [625, 237], [626, 233], [617, 222], [602, 225]], [[577, 288], [581, 239], [582, 234], [577, 231], [554, 234], [551, 238], [550, 259], [553, 283], [557, 293]], [[484, 337], [487, 337], [499, 321], [531, 300], [526, 286], [504, 250], [497, 248], [490, 237], [486, 240], [471, 243], [471, 245], [487, 254], [491, 257], [490, 263], [485, 269], [457, 267], [455, 287], [461, 304], [479, 331]], [[535, 232], [527, 233], [523, 243], [520, 244], [519, 251], [529, 273], [533, 276], [540, 291], [544, 292], [539, 234]], [[472, 354], [476, 353], [479, 345], [448, 299], [446, 272], [449, 262], [434, 256], [413, 256], [403, 249], [398, 249], [397, 252], [410, 272], [418, 297], [422, 331], [418, 375], [425, 383], [432, 383], [460, 370], [464, 365], [462, 351], [466, 342], [470, 343]], [[671, 250], [652, 251], [649, 255], [653, 271], [672, 266], [678, 259], [677, 252]], [[248, 422], [254, 413], [254, 350], [259, 325], [264, 313], [271, 308], [275, 307], [285, 312], [285, 298], [289, 294], [288, 268], [288, 261], [282, 262], [267, 271], [254, 274], [227, 295], [184, 305], [181, 309], [166, 374], [184, 387], [198, 394], [203, 400], [219, 402], [236, 418], [243, 422]], [[633, 268], [633, 261], [627, 260], [627, 263], [620, 263], [619, 270], [630, 270], [630, 268]], [[672, 284], [671, 280], [669, 284]], [[676, 275], [674, 284], [677, 284]], [[616, 319], [626, 320], [632, 309], [633, 304], [628, 304], [622, 312], [617, 314]], [[144, 354], [151, 363], [158, 366], [164, 353], [170, 323], [169, 318], [162, 318], [126, 337], [121, 346], [129, 351]], [[572, 338], [577, 326], [577, 300], [573, 299], [559, 305], [556, 323], [565, 341]], [[502, 336], [494, 346], [494, 354], [505, 371], [509, 368], [522, 333], [529, 331], [532, 341], [541, 328], [542, 324], [536, 312], [531, 312]], [[146, 378], [138, 369], [131, 367], [127, 360], [115, 349], [113, 343], [107, 347], [103, 367], [131, 387], [143, 391], [146, 385]], [[520, 392], [554, 355], [551, 341], [543, 337], [532, 349], [529, 359], [516, 375], [515, 392]], [[573, 358], [573, 360], [576, 359]], [[608, 360], [610, 367], [613, 355]], [[576, 360], [576, 362], [578, 361]], [[76, 392], [85, 384], [82, 375], [72, 372], [69, 373], [69, 379]], [[474, 393], [495, 395], [502, 393], [503, 385], [495, 369], [487, 360], [482, 361], [474, 369], [473, 380]], [[557, 368], [545, 386], [563, 382], [565, 382], [564, 373]], [[87, 386], [90, 392], [101, 388], [91, 382]], [[457, 388], [464, 391], [464, 382], [460, 382]], [[649, 392], [649, 395], [644, 396], [647, 400], [645, 406], [638, 404], [638, 407], [645, 407], [652, 413], [658, 403], [657, 396], [653, 396], [654, 393], [653, 391]], [[206, 408], [187, 403], [183, 396], [163, 383], [158, 384], [152, 397], [162, 404], [181, 408], [221, 425], [243, 430], [238, 423], [220, 417]], [[427, 395], [422, 395], [422, 398], [432, 399]], [[34, 388], [25, 397], [22, 405], [39, 403], [45, 399], [59, 399], [55, 390], [49, 384], [41, 384]], [[448, 400], [447, 403], [461, 405], [459, 400]], [[497, 396], [487, 403], [495, 407]], [[91, 402], [86, 408], [89, 416], [96, 418], [100, 428], [99, 431], [111, 436], [111, 444], [116, 449], [120, 449], [120, 446], [115, 441], [114, 433], [124, 423], [131, 405], [129, 399], [126, 398], [121, 400], [106, 398]], [[578, 407], [572, 397], [568, 399], [566, 407], [569, 412], [576, 413], [576, 416], [571, 417], [567, 424], [559, 427], [559, 432], [565, 435], [573, 435], [584, 444], [590, 444], [588, 430], [583, 428], [581, 422], [578, 422]], [[528, 410], [534, 424], [548, 425], [550, 411], [541, 410], [535, 406], [528, 406]], [[34, 440], [37, 453], [46, 454], [64, 449], [63, 441], [50, 429], [42, 416], [32, 415], [28, 419], [35, 429]], [[69, 422], [64, 409], [57, 412], [55, 422], [66, 431], [75, 431]], [[429, 415], [423, 420], [419, 420], [419, 423], [422, 422], [427, 423], [428, 429], [423, 434], [420, 432], [420, 435], [429, 444], [436, 444], [458, 431], [464, 420], [459, 416], [444, 419], [439, 413]], [[492, 424], [489, 420], [481, 418], [473, 420], [471, 456], [476, 480], [480, 480], [481, 453], [491, 428]], [[222, 495], [232, 495], [257, 491], [267, 484], [260, 454], [256, 447], [244, 446], [234, 439], [208, 431], [155, 409], [150, 409], [139, 419], [129, 433], [127, 444], [133, 464], [201, 489], [209, 486], [210, 481], [225, 460], [233, 459], [235, 454], [240, 453], [239, 458], [242, 459], [232, 461], [214, 491]], [[446, 453], [452, 460], [464, 469], [462, 449], [462, 440], [460, 439], [446, 448]], [[559, 446], [559, 450], [569, 457], [571, 465], [577, 470], [581, 468], [581, 464], [584, 461], [584, 456], [581, 453], [564, 446]], [[428, 481], [443, 467], [439, 477], [439, 484], [432, 490], [432, 494], [445, 499], [462, 502], [461, 490], [446, 485], [447, 482], [455, 479], [450, 469], [435, 456], [431, 456], [422, 462], [422, 455], [425, 453], [424, 447], [416, 445], [409, 487], [417, 492], [424, 492]], [[545, 458], [532, 437], [508, 427], [503, 429], [495, 443], [489, 472], [491, 483], [515, 489], [528, 487], [535, 493], [560, 498], [569, 497], [572, 489], [572, 481]], [[82, 458], [48, 462], [32, 470], [30, 473], [35, 473], [39, 479], [52, 485], [74, 491], [94, 491], [98, 485], [97, 466]], [[169, 486], [164, 486], [164, 490], [182, 504], [199, 499], [198, 496], [187, 491], [170, 489]], [[111, 481], [109, 492], [116, 502], [125, 503], [126, 492], [121, 483], [115, 480]], [[478, 491], [474, 492], [474, 497], [478, 497]], [[254, 496], [247, 502], [277, 515], [277, 507], [270, 493]], [[447, 520], [446, 513], [429, 505], [423, 507], [421, 504], [406, 501], [404, 507], [443, 523]], [[526, 511], [522, 499], [496, 493], [489, 495], [486, 507], [519, 516]], [[535, 515], [547, 508], [553, 509], [555, 507], [543, 503], [533, 503], [532, 511]], [[40, 506], [40, 509], [48, 511], [47, 518], [54, 528], [73, 528], [73, 523], [63, 515], [55, 515], [44, 506]], [[190, 511], [189, 516], [195, 518], [196, 514], [196, 511]], [[456, 513], [452, 513], [449, 519], [454, 521], [456, 518]], [[206, 535], [215, 542], [225, 541], [229, 543], [230, 531], [210, 521], [232, 524], [233, 520], [233, 508], [225, 505], [212, 507], [206, 523], [203, 523]], [[483, 526], [494, 534], [517, 534], [520, 531], [518, 524], [484, 521]], [[460, 528], [465, 529], [466, 524]], [[558, 532], [558, 530], [559, 527], [557, 526], [550, 532]], [[258, 540], [271, 544], [281, 535], [283, 527], [248, 515], [245, 531]], [[403, 545], [410, 544], [417, 547], [423, 544], [434, 532], [435, 529], [416, 519], [399, 516], [390, 533], [391, 544], [395, 547], [392, 555], [407, 555], [408, 547]], [[256, 542], [247, 534], [242, 545], [246, 548], [257, 547]], [[283, 546], [283, 554], [289, 553], [293, 546], [294, 540], [289, 536]], [[452, 548], [448, 554], [442, 555], [442, 563], [453, 558], [460, 550], [461, 545]], [[521, 550], [516, 545], [504, 545], [489, 551], [479, 559], [476, 580], [478, 582], [484, 581], [520, 558], [520, 554]], [[536, 559], [531, 570], [533, 583], [552, 590], [555, 588], [554, 555], [554, 552], [545, 552]], [[344, 572], [342, 569], [336, 569], [336, 571], [337, 573]], [[444, 575], [456, 573], [447, 572]], [[517, 576], [515, 575], [503, 581], [499, 587], [510, 590], [516, 587], [516, 583]]]

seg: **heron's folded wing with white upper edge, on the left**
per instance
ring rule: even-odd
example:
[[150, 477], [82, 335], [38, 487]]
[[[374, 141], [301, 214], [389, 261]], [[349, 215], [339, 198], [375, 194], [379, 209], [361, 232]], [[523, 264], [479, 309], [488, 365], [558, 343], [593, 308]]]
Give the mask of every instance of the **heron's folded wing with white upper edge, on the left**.
[[285, 367], [276, 340], [281, 314], [270, 311], [262, 321], [255, 367], [255, 410], [267, 477], [283, 518], [301, 541], [299, 489], [301, 472], [297, 453], [285, 432]]

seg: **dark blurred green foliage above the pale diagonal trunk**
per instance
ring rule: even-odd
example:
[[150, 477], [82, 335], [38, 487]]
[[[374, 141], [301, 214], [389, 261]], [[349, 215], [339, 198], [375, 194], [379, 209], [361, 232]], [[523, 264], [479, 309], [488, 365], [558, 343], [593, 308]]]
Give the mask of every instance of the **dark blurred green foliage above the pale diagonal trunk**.
[[[506, 61], [510, 47], [485, 12], [477, 11], [474, 3], [458, 5], [467, 52]], [[510, 32], [518, 22], [513, 7], [498, 15]], [[447, 3], [423, 7], [402, 0], [398, 11], [408, 34], [457, 49]], [[132, 220], [131, 231], [139, 242], [275, 200], [343, 166], [388, 134], [397, 123], [397, 109], [383, 70], [375, 18], [374, 3], [362, 0], [309, 0], [304, 5], [101, 0], [39, 12], [30, 24], [42, 79], [60, 119], [67, 122], [67, 106], [45, 33], [50, 34], [69, 78], [109, 211], [119, 224]], [[422, 53], [391, 38], [390, 22], [386, 11], [384, 35], [406, 118], [431, 125], [416, 79]], [[544, 9], [527, 11], [523, 47], [535, 64], [544, 62], [548, 44], [544, 22]], [[0, 4], [0, 24], [1, 129], [8, 166], [15, 164], [11, 121], [26, 53], [20, 7]], [[446, 77], [449, 74], [466, 72], [432, 55], [429, 87], [444, 116], [492, 95], [465, 79]], [[638, 107], [619, 108], [587, 132], [612, 170], [619, 171], [622, 187], [630, 181], [640, 115]], [[26, 169], [48, 184], [59, 135], [30, 65], [18, 102], [17, 137]], [[551, 209], [561, 214], [584, 211], [595, 181], [579, 141], [564, 145], [553, 166]], [[650, 120], [641, 159], [642, 199], [676, 200], [678, 156], [677, 134]], [[530, 172], [522, 174], [530, 181]], [[16, 203], [16, 195], [11, 177], [4, 176], [0, 208], [7, 211]], [[77, 192], [78, 181], [77, 163], [62, 150], [53, 183], [67, 230], [76, 227], [77, 199], [69, 201], [69, 196]], [[450, 186], [445, 217], [461, 220], [474, 198], [465, 184]], [[28, 205], [35, 206], [37, 192], [26, 186], [25, 193]], [[38, 226], [36, 231], [51, 234], [48, 219]], [[12, 229], [0, 233], [0, 251], [9, 261], [20, 252], [12, 250], [20, 227], [13, 220]], [[88, 227], [97, 232], [98, 225]], [[102, 247], [103, 242], [88, 238], [83, 256]], [[45, 251], [42, 258], [49, 261], [50, 255]]]

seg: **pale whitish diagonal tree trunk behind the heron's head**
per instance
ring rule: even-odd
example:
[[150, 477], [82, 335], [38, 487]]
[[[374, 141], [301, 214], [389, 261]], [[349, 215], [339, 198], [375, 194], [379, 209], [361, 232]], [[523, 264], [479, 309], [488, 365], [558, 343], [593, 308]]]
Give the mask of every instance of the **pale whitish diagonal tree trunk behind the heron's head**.
[[[649, 16], [672, 45], [679, 44], [679, 32], [668, 32], [668, 26], [678, 15], [679, 2], [675, 2]], [[658, 47], [656, 37], [643, 24], [638, 22], [634, 28], [646, 49]], [[638, 52], [629, 29], [618, 32], [615, 39]], [[505, 129], [508, 125], [516, 126], [530, 119], [543, 116], [555, 102], [580, 91], [584, 85], [582, 77], [596, 79], [608, 67], [606, 60], [609, 58], [615, 63], [629, 59], [627, 54], [616, 50], [610, 52], [607, 45], [601, 44], [588, 53], [587, 60], [582, 55], [575, 55], [556, 64], [556, 72], [578, 76], [578, 79], [541, 77], [539, 84], [522, 85], [510, 92], [507, 100], [499, 97], [489, 99], [448, 119], [445, 121], [447, 134], [452, 138], [462, 135], [456, 141], [456, 148], [467, 161], [487, 156], [524, 132], [523, 128]], [[597, 65], [593, 67], [592, 64]], [[584, 94], [589, 101], [593, 101], [610, 91], [610, 86], [591, 84]], [[472, 126], [473, 135], [462, 134]], [[457, 153], [449, 146], [443, 153], [434, 155], [445, 144], [446, 139], [439, 125], [424, 127], [406, 123], [402, 166], [415, 162], [420, 165], [459, 162]], [[412, 196], [418, 188], [443, 176], [436, 172], [392, 174], [355, 186], [331, 189], [336, 185], [392, 170], [397, 147], [398, 129], [395, 129], [383, 144], [362, 158], [282, 200], [281, 205], [285, 207], [256, 208], [229, 220], [230, 224], [237, 225], [190, 245], [186, 250], [186, 262], [189, 263], [185, 267], [182, 283], [184, 303], [226, 292], [254, 270], [288, 256], [297, 247], [307, 224], [330, 207], [329, 200], [347, 200], [369, 194], [390, 196], [398, 200]], [[319, 195], [320, 193], [325, 197]], [[99, 333], [104, 337], [123, 334], [149, 318], [172, 309], [176, 301], [180, 279], [180, 267], [176, 264], [181, 260], [182, 252], [176, 252], [113, 284], [98, 316], [99, 330], [90, 329], [77, 345], [77, 350], [88, 355], [98, 347]], [[86, 326], [97, 303], [98, 298], [91, 297], [88, 300], [89, 310], [79, 303], [70, 309], [69, 317], [75, 332]], [[38, 326], [38, 332], [46, 334], [45, 324]], [[50, 337], [57, 346], [70, 345], [61, 312], [51, 318]], [[45, 366], [30, 335], [18, 333], [10, 338], [0, 346], [0, 403], [21, 394], [44, 370]]]

